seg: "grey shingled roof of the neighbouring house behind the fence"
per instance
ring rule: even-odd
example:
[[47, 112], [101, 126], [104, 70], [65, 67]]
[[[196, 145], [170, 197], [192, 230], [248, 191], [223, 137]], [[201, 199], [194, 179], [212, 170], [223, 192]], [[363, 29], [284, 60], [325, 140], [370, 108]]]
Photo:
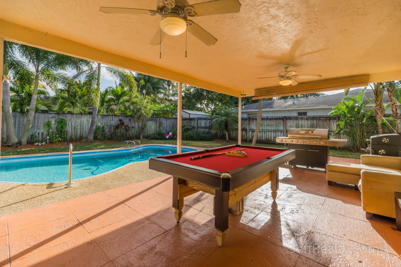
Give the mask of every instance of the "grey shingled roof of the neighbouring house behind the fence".
[[[362, 89], [355, 89], [349, 91], [348, 95], [356, 96]], [[343, 97], [344, 93], [338, 93], [334, 95], [328, 96], [320, 96], [320, 97], [308, 97], [308, 98], [293, 98], [293, 99], [281, 99], [281, 100], [270, 100], [263, 101], [263, 110], [274, 109], [316, 109], [316, 108], [331, 108], [337, 104], [339, 104]], [[365, 96], [367, 98], [372, 98], [371, 103], [374, 104], [373, 93], [371, 89], [366, 89]], [[388, 99], [387, 92], [383, 94], [383, 103], [390, 102]], [[369, 105], [369, 104], [368, 104]], [[258, 110], [259, 103], [246, 105], [242, 109], [242, 112], [248, 111], [256, 111]]]

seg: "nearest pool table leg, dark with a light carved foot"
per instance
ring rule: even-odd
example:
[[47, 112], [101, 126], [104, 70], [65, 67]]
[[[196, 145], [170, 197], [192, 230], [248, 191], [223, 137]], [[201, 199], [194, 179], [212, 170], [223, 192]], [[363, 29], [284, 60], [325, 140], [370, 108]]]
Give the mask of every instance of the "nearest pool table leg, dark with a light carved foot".
[[220, 246], [226, 240], [226, 230], [229, 228], [229, 197], [230, 192], [216, 190], [215, 228], [217, 230], [216, 239]]

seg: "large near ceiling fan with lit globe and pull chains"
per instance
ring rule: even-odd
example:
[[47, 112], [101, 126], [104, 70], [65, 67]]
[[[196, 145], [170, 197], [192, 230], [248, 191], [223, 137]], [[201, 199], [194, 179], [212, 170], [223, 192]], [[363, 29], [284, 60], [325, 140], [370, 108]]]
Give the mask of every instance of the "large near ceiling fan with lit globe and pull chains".
[[240, 8], [241, 4], [238, 0], [216, 0], [194, 5], [189, 5], [186, 0], [157, 0], [156, 10], [101, 7], [100, 11], [113, 14], [161, 16], [160, 28], [150, 41], [151, 45], [159, 45], [166, 34], [177, 36], [188, 30], [197, 39], [211, 46], [217, 42], [217, 39], [188, 18], [238, 13]]

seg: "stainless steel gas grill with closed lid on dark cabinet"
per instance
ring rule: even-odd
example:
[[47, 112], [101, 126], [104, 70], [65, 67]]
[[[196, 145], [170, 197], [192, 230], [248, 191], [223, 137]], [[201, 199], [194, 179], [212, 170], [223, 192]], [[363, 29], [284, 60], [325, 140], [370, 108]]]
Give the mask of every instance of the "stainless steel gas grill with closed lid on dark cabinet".
[[329, 147], [344, 146], [346, 139], [329, 139], [329, 129], [290, 129], [288, 137], [276, 137], [277, 143], [286, 143], [295, 149], [291, 165], [323, 168], [329, 162]]

